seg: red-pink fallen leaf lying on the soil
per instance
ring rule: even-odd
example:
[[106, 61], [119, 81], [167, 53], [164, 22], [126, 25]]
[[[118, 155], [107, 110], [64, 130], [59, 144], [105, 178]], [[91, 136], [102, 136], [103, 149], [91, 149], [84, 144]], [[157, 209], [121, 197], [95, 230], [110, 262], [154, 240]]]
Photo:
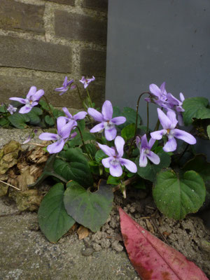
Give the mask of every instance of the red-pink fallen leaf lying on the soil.
[[142, 280], [208, 280], [184, 255], [141, 228], [123, 209], [120, 227], [130, 261]]

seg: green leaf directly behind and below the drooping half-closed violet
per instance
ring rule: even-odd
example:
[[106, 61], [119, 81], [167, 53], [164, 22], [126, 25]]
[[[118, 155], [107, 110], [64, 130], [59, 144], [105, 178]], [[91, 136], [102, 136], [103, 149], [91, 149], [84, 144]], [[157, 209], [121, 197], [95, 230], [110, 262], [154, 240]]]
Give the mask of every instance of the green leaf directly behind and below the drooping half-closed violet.
[[137, 173], [142, 178], [152, 181], [155, 181], [156, 174], [160, 172], [161, 169], [169, 167], [171, 163], [171, 157], [168, 153], [165, 153], [164, 151], [160, 151], [158, 153], [160, 157], [160, 164], [154, 165], [148, 160], [148, 164], [146, 167], [139, 167], [139, 157], [135, 160], [135, 163], [137, 165]]

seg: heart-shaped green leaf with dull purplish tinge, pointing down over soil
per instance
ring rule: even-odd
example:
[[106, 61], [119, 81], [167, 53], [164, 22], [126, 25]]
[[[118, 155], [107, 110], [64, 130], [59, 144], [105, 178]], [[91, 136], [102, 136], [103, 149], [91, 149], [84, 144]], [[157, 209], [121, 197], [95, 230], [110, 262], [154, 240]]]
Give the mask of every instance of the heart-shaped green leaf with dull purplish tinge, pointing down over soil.
[[96, 232], [104, 225], [112, 209], [113, 192], [106, 182], [99, 186], [99, 190], [91, 193], [78, 183], [67, 183], [64, 193], [66, 211], [77, 223]]

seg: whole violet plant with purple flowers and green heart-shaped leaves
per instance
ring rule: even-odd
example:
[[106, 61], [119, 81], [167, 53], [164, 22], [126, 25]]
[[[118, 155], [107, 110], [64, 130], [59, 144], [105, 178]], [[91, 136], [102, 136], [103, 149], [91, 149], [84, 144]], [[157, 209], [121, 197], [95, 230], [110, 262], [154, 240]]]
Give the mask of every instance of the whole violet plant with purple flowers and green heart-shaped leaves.
[[[94, 80], [92, 76], [79, 81], [87, 90]], [[65, 77], [62, 87], [55, 91], [68, 94], [75, 88], [78, 90], [74, 80]], [[102, 105], [102, 111], [95, 109], [87, 90], [85, 111], [72, 115], [66, 107], [62, 111], [54, 109], [44, 91], [36, 91], [34, 86], [25, 99], [10, 98], [21, 107], [0, 107], [0, 125], [8, 115], [10, 120], [13, 116], [20, 118], [21, 124], [27, 123], [27, 118], [43, 115], [45, 123], [55, 125], [55, 133], [46, 131], [39, 135], [39, 139], [50, 141], [45, 147], [50, 158], [41, 178], [59, 178], [38, 211], [40, 228], [48, 240], [56, 242], [75, 222], [93, 232], [99, 230], [110, 214], [113, 193], [118, 190], [126, 197], [126, 189], [139, 188], [142, 180], [140, 188], [153, 193], [159, 211], [169, 218], [179, 220], [203, 204], [207, 206], [210, 163], [204, 155], [197, 155], [193, 146], [198, 137], [210, 137], [209, 102], [203, 97], [185, 99], [182, 93], [180, 100], [176, 99], [167, 92], [165, 83], [160, 87], [152, 83], [149, 89], [139, 96], [137, 111], [125, 107], [121, 112], [109, 100]], [[154, 130], [148, 121], [146, 127], [141, 123], [138, 111], [143, 94], [148, 94], [147, 108], [151, 102], [160, 107]], [[203, 134], [197, 125], [201, 122], [203, 127], [206, 125]], [[180, 129], [183, 123], [191, 125], [190, 132]], [[38, 188], [38, 183], [29, 188]]]

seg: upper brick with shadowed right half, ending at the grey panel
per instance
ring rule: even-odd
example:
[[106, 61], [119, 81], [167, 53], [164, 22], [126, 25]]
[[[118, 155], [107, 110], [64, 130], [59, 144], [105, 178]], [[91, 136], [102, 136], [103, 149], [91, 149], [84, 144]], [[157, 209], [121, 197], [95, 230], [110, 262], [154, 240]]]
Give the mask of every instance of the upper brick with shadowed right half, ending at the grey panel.
[[88, 15], [55, 10], [55, 35], [59, 37], [106, 45], [106, 25], [106, 22]]

